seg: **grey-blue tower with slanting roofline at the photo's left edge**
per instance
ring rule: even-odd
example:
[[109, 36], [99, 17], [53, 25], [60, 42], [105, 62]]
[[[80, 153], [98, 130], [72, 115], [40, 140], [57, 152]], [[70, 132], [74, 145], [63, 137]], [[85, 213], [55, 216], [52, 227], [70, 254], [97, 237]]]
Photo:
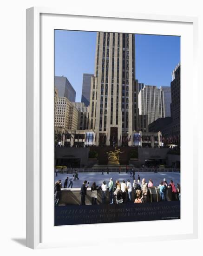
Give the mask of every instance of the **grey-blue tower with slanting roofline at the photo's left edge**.
[[66, 97], [69, 101], [75, 101], [76, 92], [65, 76], [55, 76], [54, 86], [58, 90], [59, 97]]

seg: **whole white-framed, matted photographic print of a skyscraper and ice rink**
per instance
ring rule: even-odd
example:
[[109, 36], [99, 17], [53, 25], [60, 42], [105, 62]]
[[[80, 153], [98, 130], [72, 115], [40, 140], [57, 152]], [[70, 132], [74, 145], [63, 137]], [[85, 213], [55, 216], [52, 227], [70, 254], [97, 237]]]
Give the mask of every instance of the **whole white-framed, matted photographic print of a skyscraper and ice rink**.
[[27, 9], [28, 247], [197, 236], [196, 24]]

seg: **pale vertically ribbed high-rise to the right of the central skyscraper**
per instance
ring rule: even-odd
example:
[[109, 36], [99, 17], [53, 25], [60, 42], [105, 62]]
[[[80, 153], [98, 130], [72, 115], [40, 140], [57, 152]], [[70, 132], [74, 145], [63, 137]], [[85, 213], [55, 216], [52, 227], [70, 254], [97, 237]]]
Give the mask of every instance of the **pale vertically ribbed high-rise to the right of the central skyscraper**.
[[161, 89], [144, 85], [138, 94], [139, 114], [148, 115], [148, 124], [163, 117], [163, 101]]

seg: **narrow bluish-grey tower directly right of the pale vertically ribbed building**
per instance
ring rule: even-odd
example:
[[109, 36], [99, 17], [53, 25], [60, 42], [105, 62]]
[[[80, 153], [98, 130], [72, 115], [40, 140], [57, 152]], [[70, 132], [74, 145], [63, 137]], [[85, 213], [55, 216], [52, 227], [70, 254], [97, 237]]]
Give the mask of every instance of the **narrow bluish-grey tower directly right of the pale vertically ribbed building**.
[[169, 86], [161, 86], [162, 92], [162, 105], [163, 105], [163, 117], [170, 116], [170, 103], [171, 103], [171, 92]]

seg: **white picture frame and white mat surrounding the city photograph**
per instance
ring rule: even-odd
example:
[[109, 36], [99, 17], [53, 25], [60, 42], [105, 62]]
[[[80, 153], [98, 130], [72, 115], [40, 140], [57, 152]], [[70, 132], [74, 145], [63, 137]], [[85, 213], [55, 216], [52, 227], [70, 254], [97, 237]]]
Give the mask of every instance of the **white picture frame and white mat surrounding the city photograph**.
[[[44, 16], [43, 16], [44, 15]], [[45, 18], [47, 17], [47, 18]], [[57, 20], [54, 20], [56, 17], [60, 18]], [[53, 203], [52, 198], [53, 195], [48, 192], [50, 192], [53, 186], [53, 182], [47, 187], [47, 191], [45, 190], [44, 182], [45, 182], [45, 161], [44, 159], [48, 159], [47, 157], [50, 157], [49, 153], [51, 154], [51, 157], [53, 156], [52, 148], [51, 151], [45, 154], [45, 141], [47, 142], [48, 137], [53, 135], [53, 125], [52, 128], [49, 129], [50, 126], [48, 126], [49, 123], [52, 123], [52, 114], [53, 109], [47, 113], [48, 107], [46, 105], [50, 106], [52, 104], [52, 99], [50, 97], [53, 97], [52, 89], [48, 89], [46, 99], [45, 99], [45, 87], [43, 87], [44, 79], [46, 81], [50, 81], [51, 85], [53, 86], [52, 80], [52, 71], [53, 71], [53, 63], [52, 63], [52, 57], [51, 61], [49, 60], [49, 64], [46, 67], [46, 70], [42, 68], [44, 62], [47, 62], [45, 56], [48, 53], [49, 50], [53, 49], [53, 41], [50, 41], [50, 46], [47, 47], [47, 53], [43, 55], [42, 58], [42, 51], [45, 49], [43, 44], [46, 44], [49, 39], [49, 36], [46, 35], [46, 40], [44, 40], [43, 33], [45, 33], [44, 25], [48, 24], [47, 26], [50, 26], [49, 29], [47, 29], [47, 33], [51, 35], [51, 31], [53, 30], [53, 27], [56, 29], [67, 29], [66, 28], [66, 22], [65, 19], [71, 19], [74, 20], [75, 23], [70, 24], [67, 27], [68, 29], [72, 30], [85, 30], [85, 22], [92, 23], [92, 20], [95, 20], [95, 23], [99, 26], [100, 31], [102, 31], [102, 27], [107, 26], [106, 21], [108, 21], [108, 27], [109, 30], [112, 30], [113, 26], [117, 26], [119, 23], [119, 29], [121, 32], [128, 29], [126, 28], [126, 24], [128, 22], [137, 22], [138, 24], [144, 24], [146, 26], [148, 24], [154, 24], [153, 27], [149, 28], [151, 29], [151, 33], [146, 32], [142, 33], [142, 31], [138, 31], [138, 34], [163, 34], [163, 24], [165, 26], [165, 33], [167, 33], [167, 29], [170, 29], [170, 26], [174, 26], [174, 24], [177, 27], [177, 31], [174, 30], [174, 35], [181, 35], [185, 36], [186, 41], [186, 35], [187, 33], [190, 35], [190, 39], [187, 37], [188, 45], [190, 45], [190, 51], [188, 52], [188, 56], [186, 56], [184, 53], [186, 53], [187, 45], [184, 44], [184, 46], [181, 46], [181, 63], [183, 64], [183, 67], [181, 67], [181, 82], [184, 82], [186, 87], [192, 84], [190, 87], [191, 91], [198, 90], [197, 88], [197, 18], [196, 17], [183, 17], [183, 16], [164, 16], [164, 15], [150, 15], [150, 14], [138, 14], [138, 13], [92, 13], [89, 11], [88, 13], [79, 13], [77, 11], [70, 12], [68, 10], [64, 9], [52, 9], [52, 8], [44, 8], [44, 7], [32, 7], [26, 10], [26, 246], [33, 248], [33, 249], [39, 249], [39, 248], [47, 248], [47, 247], [58, 247], [58, 246], [70, 246], [74, 244], [74, 241], [71, 240], [71, 237], [61, 239], [60, 241], [53, 241], [54, 232], [53, 229], [60, 229], [61, 234], [65, 232], [65, 230], [69, 229], [71, 230], [72, 234], [77, 235], [80, 230], [82, 231], [84, 229], [84, 225], [73, 225], [72, 227], [52, 227], [50, 226], [52, 220], [52, 213], [50, 213], [51, 217], [49, 219], [49, 216], [44, 213], [43, 207], [49, 209], [49, 211], [53, 210]], [[90, 21], [90, 19], [92, 19]], [[48, 22], [49, 20], [49, 22]], [[50, 22], [51, 20], [51, 22]], [[79, 20], [77, 22], [77, 20]], [[84, 20], [84, 22], [81, 22], [81, 20]], [[85, 21], [86, 20], [86, 21]], [[89, 20], [89, 21], [88, 21]], [[104, 24], [101, 24], [101, 20], [103, 20]], [[88, 23], [88, 24], [89, 24]], [[129, 23], [129, 24], [130, 24]], [[155, 24], [156, 23], [156, 24]], [[115, 25], [117, 24], [117, 25]], [[122, 25], [123, 24], [123, 25]], [[184, 29], [181, 28], [183, 25]], [[89, 25], [93, 26], [93, 25]], [[95, 26], [95, 24], [94, 24]], [[123, 27], [122, 27], [123, 26]], [[186, 26], [188, 26], [189, 29], [186, 29]], [[178, 28], [179, 27], [179, 28]], [[103, 31], [104, 31], [103, 29]], [[183, 29], [183, 34], [179, 34], [179, 32]], [[91, 29], [86, 29], [90, 30]], [[115, 27], [115, 30], [117, 28]], [[138, 29], [139, 30], [139, 29]], [[158, 31], [160, 30], [160, 33]], [[186, 31], [187, 30], [187, 31]], [[96, 31], [96, 30], [92, 30]], [[149, 30], [148, 30], [149, 31]], [[134, 31], [131, 31], [131, 28], [129, 27], [129, 33], [134, 33]], [[172, 35], [171, 34], [171, 35]], [[42, 41], [42, 38], [44, 41]], [[52, 38], [52, 35], [51, 35]], [[187, 59], [190, 58], [190, 59]], [[190, 73], [192, 78], [189, 78], [188, 80], [187, 72], [189, 71], [188, 68], [188, 60], [192, 61], [190, 62]], [[191, 67], [192, 66], [192, 67]], [[51, 71], [51, 73], [50, 73]], [[42, 75], [43, 72], [43, 75]], [[51, 78], [47, 79], [47, 74], [49, 73]], [[47, 88], [46, 88], [47, 89]], [[184, 95], [181, 96], [181, 123], [183, 124], [185, 122], [185, 119], [187, 118], [186, 113], [184, 111], [189, 111], [192, 115], [192, 123], [193, 123], [193, 129], [197, 130], [198, 127], [198, 121], [197, 121], [197, 114], [193, 113], [192, 110], [194, 108], [197, 108], [197, 102], [194, 100], [195, 98], [192, 98], [192, 109], [187, 108], [185, 99], [191, 94], [184, 92]], [[186, 110], [185, 110], [186, 109]], [[45, 120], [45, 111], [47, 113], [46, 115], [46, 123]], [[183, 114], [182, 114], [183, 112]], [[45, 133], [46, 131], [46, 133]], [[185, 142], [181, 142], [181, 150], [183, 151], [184, 157], [188, 160], [188, 163], [184, 165], [184, 160], [181, 158], [181, 166], [184, 168], [192, 168], [193, 172], [192, 174], [189, 173], [189, 170], [185, 171], [186, 174], [183, 173], [183, 176], [186, 181], [189, 181], [189, 178], [192, 176], [192, 187], [196, 187], [197, 191], [197, 179], [198, 179], [198, 169], [197, 169], [197, 148], [195, 147], [195, 141], [197, 141], [197, 133], [192, 133], [192, 154], [188, 154], [187, 152], [184, 152], [184, 148], [186, 147]], [[181, 133], [182, 136], [182, 133]], [[183, 134], [182, 137], [186, 136]], [[51, 139], [52, 141], [52, 139]], [[53, 144], [53, 143], [52, 143]], [[52, 153], [51, 153], [52, 152]], [[192, 158], [189, 160], [189, 158]], [[52, 160], [53, 161], [53, 160]], [[50, 163], [50, 166], [52, 166], [52, 161]], [[48, 164], [49, 165], [49, 164]], [[49, 174], [48, 174], [49, 175]], [[181, 174], [182, 175], [182, 174]], [[52, 175], [50, 178], [47, 178], [47, 181], [52, 181]], [[182, 179], [182, 182], [183, 179]], [[184, 198], [184, 191], [186, 191], [186, 188], [184, 184], [182, 184], [182, 197], [183, 201], [181, 202], [181, 211], [185, 207], [186, 204], [186, 198]], [[46, 194], [47, 193], [47, 194]], [[197, 193], [198, 194], [198, 193]], [[176, 232], [176, 233], [167, 233], [164, 236], [158, 236], [155, 234], [154, 236], [144, 236], [145, 241], [152, 241], [152, 240], [169, 240], [169, 239], [185, 239], [185, 238], [197, 238], [198, 236], [198, 195], [194, 196], [191, 195], [191, 200], [193, 202], [193, 205], [190, 204], [190, 209], [187, 213], [187, 216], [182, 214], [181, 212], [181, 220], [180, 222], [183, 222], [182, 226], [180, 225], [180, 229], [182, 229], [182, 232]], [[50, 197], [50, 198], [49, 198]], [[46, 202], [44, 200], [46, 198]], [[49, 208], [50, 207], [50, 208]], [[52, 210], [51, 210], [52, 209]], [[191, 213], [191, 215], [190, 215]], [[47, 222], [46, 225], [45, 222], [45, 216], [47, 216]], [[188, 219], [187, 219], [188, 218]], [[49, 222], [48, 222], [49, 219]], [[160, 222], [160, 221], [159, 221]], [[156, 225], [158, 225], [159, 222], [156, 222]], [[163, 221], [161, 221], [163, 222]], [[167, 225], [167, 221], [164, 221]], [[170, 223], [173, 223], [175, 221], [170, 221]], [[184, 223], [190, 223], [190, 228], [188, 230], [184, 230]], [[151, 225], [152, 228], [155, 228], [155, 222], [148, 222], [148, 225]], [[178, 222], [179, 223], [179, 222]], [[111, 225], [111, 228], [114, 229], [117, 227], [118, 223], [105, 223], [105, 224], [90, 224], [88, 225], [88, 229], [90, 229], [90, 232], [93, 230], [98, 229], [101, 230], [101, 233], [104, 232], [107, 225]], [[131, 224], [133, 225], [133, 224]], [[179, 224], [178, 224], [179, 225]], [[48, 227], [49, 226], [49, 227]], [[129, 223], [119, 223], [120, 229], [125, 229], [129, 226]], [[181, 228], [182, 227], [182, 228]], [[47, 234], [51, 234], [50, 237], [47, 236]], [[122, 232], [121, 232], [122, 233]], [[155, 232], [156, 233], [156, 232]], [[51, 237], [52, 236], [52, 237]], [[42, 237], [46, 237], [46, 239], [42, 239]], [[133, 239], [135, 236], [133, 233], [129, 234], [129, 236], [124, 236], [120, 239], [122, 241], [125, 241], [127, 239]], [[93, 238], [92, 238], [93, 239]], [[143, 235], [136, 236], [137, 241], [141, 241], [143, 239]], [[57, 240], [57, 239], [56, 239]], [[78, 236], [77, 243], [80, 242], [81, 245], [92, 243], [91, 241], [88, 242], [88, 240], [81, 241], [81, 238]], [[117, 241], [117, 243], [119, 243]]]

